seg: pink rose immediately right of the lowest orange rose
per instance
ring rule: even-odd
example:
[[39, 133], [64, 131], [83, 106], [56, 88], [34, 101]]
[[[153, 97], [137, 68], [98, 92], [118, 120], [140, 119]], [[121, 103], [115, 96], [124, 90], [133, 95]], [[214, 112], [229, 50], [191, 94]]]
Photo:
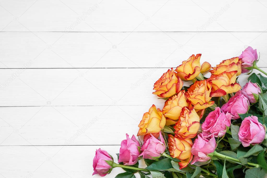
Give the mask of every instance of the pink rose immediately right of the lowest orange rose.
[[198, 138], [195, 139], [193, 147], [191, 149], [191, 152], [194, 155], [191, 164], [195, 164], [197, 163], [197, 161], [209, 161], [211, 158], [208, 156], [208, 154], [213, 153], [216, 147], [217, 144], [214, 135], [211, 135], [211, 139], [209, 140], [207, 138], [204, 138], [202, 133], [199, 133]]

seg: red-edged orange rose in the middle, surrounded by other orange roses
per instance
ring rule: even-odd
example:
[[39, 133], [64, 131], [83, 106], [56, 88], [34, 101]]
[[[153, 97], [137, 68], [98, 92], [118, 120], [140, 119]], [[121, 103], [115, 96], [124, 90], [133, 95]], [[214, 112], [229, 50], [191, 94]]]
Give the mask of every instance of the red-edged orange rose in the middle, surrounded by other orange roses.
[[[208, 81], [209, 82], [209, 81]], [[211, 82], [210, 82], [211, 83]], [[211, 85], [211, 84], [210, 84]], [[214, 104], [210, 97], [211, 88], [208, 88], [207, 81], [196, 81], [185, 93], [195, 109], [205, 109]]]

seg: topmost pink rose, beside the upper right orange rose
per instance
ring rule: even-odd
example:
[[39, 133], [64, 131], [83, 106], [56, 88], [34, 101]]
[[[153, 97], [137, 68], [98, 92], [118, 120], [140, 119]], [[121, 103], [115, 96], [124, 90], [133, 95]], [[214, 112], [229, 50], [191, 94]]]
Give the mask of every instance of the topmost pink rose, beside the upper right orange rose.
[[242, 73], [248, 72], [247, 67], [252, 67], [253, 62], [258, 59], [257, 49], [253, 49], [250, 46], [242, 52], [239, 56], [239, 59], [242, 61]]

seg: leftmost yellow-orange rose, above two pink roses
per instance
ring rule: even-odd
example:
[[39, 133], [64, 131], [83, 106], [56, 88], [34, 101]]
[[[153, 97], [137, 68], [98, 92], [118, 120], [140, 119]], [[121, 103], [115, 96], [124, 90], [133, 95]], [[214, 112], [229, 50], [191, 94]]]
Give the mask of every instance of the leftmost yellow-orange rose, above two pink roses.
[[153, 104], [148, 112], [144, 113], [140, 124], [137, 136], [146, 135], [150, 133], [159, 133], [165, 126], [166, 118], [160, 109], [157, 109]]

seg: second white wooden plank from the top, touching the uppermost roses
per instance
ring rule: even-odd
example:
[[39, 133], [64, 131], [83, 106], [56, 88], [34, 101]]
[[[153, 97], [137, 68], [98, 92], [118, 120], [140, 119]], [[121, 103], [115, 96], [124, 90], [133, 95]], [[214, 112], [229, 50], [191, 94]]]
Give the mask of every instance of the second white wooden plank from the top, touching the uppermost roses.
[[267, 33], [261, 32], [34, 34], [0, 33], [0, 68], [170, 68], [197, 53], [215, 66], [249, 45], [267, 67]]

